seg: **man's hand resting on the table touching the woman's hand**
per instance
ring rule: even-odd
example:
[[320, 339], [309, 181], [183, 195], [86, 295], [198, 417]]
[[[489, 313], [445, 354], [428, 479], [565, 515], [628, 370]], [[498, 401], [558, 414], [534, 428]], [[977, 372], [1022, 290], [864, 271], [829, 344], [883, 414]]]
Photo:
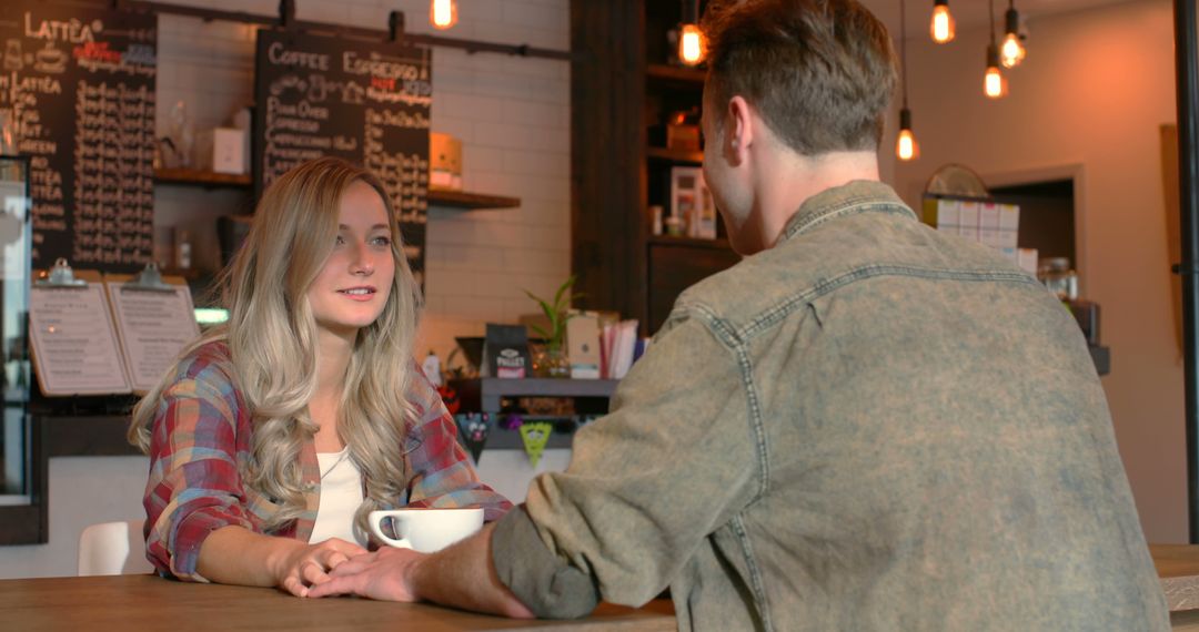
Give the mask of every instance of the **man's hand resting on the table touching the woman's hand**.
[[327, 581], [309, 589], [307, 596], [359, 595], [373, 600], [417, 601], [411, 578], [427, 557], [406, 548], [384, 547], [342, 563], [329, 573]]

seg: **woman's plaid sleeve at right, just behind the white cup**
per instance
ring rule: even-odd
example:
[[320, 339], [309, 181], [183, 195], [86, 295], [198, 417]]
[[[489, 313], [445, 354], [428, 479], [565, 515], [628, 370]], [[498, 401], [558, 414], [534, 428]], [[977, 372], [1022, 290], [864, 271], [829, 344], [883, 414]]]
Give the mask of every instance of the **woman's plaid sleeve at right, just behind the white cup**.
[[[415, 365], [414, 365], [415, 366]], [[412, 478], [402, 505], [414, 508], [482, 508], [488, 522], [499, 519], [512, 503], [478, 479], [478, 473], [458, 445], [458, 429], [441, 396], [416, 369], [409, 401], [420, 418], [412, 430], [408, 455]]]

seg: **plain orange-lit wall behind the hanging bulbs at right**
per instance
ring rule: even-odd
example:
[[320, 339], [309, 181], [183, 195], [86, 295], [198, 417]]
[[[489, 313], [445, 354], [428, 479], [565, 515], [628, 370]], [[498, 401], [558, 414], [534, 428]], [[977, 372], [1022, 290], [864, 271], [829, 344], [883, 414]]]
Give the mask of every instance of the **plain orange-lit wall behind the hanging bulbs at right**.
[[1175, 121], [1171, 20], [1168, 0], [1032, 20], [1028, 59], [1008, 72], [1011, 93], [994, 102], [982, 96], [984, 29], [959, 30], [944, 47], [912, 37], [909, 101], [922, 156], [893, 168], [909, 203], [950, 162], [990, 184], [1077, 174], [1081, 290], [1102, 306], [1111, 347], [1103, 385], [1151, 542], [1187, 539], [1158, 141], [1158, 126]]

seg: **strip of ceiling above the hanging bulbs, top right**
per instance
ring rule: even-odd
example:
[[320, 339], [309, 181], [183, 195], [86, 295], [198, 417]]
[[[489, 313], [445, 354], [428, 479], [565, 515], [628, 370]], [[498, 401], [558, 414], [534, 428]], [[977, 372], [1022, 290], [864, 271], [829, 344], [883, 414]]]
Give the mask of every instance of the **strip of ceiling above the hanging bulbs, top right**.
[[[860, 0], [875, 16], [886, 23], [892, 37], [899, 37], [899, 0]], [[1010, 0], [993, 0], [995, 6], [995, 28], [1004, 28], [1004, 13]], [[1103, 5], [1115, 5], [1134, 0], [1016, 0], [1016, 10], [1020, 17], [1035, 28], [1036, 19], [1054, 13], [1080, 11]], [[928, 36], [928, 22], [933, 16], [933, 0], [905, 0], [908, 12], [908, 37]], [[950, 12], [957, 28], [962, 30], [987, 28], [988, 0], [950, 0]]]

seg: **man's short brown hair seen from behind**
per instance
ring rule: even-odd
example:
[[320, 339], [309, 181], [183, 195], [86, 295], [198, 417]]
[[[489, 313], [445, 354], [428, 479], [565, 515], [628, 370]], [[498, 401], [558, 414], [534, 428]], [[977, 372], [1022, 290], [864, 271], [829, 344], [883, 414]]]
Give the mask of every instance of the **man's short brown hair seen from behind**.
[[878, 148], [896, 54], [856, 0], [713, 0], [703, 26], [716, 103], [740, 95], [805, 156]]

